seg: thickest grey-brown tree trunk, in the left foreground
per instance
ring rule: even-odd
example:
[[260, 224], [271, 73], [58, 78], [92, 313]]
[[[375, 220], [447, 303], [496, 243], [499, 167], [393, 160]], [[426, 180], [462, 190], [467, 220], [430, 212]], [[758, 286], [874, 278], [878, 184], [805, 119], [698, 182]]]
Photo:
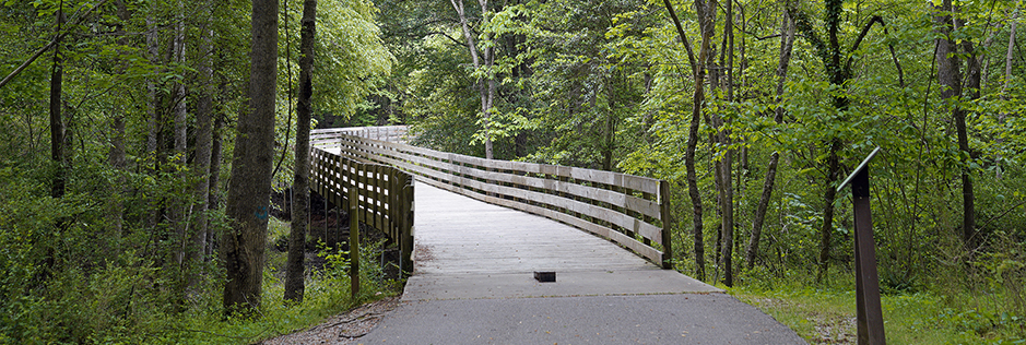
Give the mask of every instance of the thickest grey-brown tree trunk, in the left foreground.
[[260, 307], [274, 151], [278, 76], [278, 1], [252, 0], [249, 108], [238, 119], [228, 183], [232, 227], [221, 242], [224, 308], [251, 313]]

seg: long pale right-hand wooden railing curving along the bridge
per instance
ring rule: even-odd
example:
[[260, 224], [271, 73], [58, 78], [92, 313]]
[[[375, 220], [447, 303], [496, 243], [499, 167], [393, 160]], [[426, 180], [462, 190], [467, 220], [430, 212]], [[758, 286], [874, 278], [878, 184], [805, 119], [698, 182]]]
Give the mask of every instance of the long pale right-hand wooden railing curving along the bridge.
[[[608, 238], [670, 269], [667, 181], [593, 169], [483, 159], [338, 133], [326, 146], [391, 165], [418, 180], [488, 203], [545, 216]], [[327, 144], [327, 143], [326, 143]]]

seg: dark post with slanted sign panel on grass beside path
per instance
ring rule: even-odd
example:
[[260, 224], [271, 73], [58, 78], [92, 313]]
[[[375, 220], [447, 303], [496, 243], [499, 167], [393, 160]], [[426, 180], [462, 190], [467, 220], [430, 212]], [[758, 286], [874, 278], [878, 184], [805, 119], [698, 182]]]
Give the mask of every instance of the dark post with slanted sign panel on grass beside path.
[[880, 277], [876, 274], [876, 243], [873, 240], [873, 218], [870, 210], [870, 160], [880, 147], [873, 150], [862, 164], [845, 179], [837, 191], [851, 185], [856, 227], [856, 300], [858, 310], [859, 344], [886, 344], [884, 317], [880, 304]]

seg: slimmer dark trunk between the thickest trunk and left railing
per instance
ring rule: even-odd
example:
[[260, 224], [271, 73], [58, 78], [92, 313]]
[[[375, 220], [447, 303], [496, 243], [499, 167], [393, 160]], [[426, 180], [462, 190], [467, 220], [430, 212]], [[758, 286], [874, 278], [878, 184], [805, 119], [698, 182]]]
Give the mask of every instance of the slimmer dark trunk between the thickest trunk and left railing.
[[296, 175], [292, 183], [292, 233], [288, 235], [288, 263], [285, 300], [303, 301], [306, 230], [310, 209], [310, 98], [312, 93], [314, 35], [317, 33], [317, 0], [303, 2], [303, 31], [299, 41], [299, 106], [296, 108]]

